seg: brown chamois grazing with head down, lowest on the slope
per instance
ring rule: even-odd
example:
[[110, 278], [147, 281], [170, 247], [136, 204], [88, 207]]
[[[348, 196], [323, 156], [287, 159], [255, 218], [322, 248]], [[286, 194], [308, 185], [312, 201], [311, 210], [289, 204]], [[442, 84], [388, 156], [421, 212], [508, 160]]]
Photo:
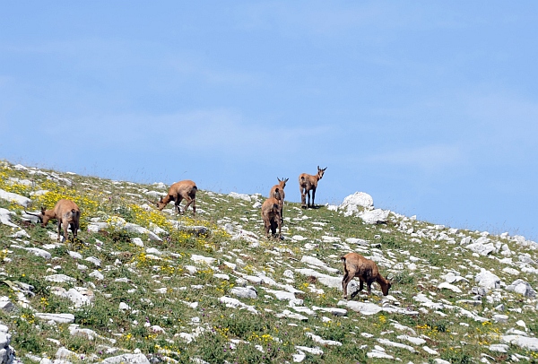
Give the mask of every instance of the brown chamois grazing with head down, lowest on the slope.
[[360, 283], [359, 290], [351, 295], [351, 298], [362, 290], [364, 282], [366, 282], [368, 287], [368, 294], [370, 294], [373, 282], [379, 283], [383, 296], [388, 294], [391, 283], [379, 273], [377, 264], [374, 261], [357, 253], [348, 253], [340, 259], [342, 259], [343, 263], [342, 290], [344, 299], [347, 299], [347, 285], [353, 277], [359, 278]]

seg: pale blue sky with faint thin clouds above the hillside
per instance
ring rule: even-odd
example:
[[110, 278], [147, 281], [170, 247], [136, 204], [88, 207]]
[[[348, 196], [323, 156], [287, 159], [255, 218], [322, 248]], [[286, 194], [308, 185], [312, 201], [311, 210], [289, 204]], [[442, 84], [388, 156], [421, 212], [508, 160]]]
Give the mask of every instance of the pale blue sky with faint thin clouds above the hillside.
[[0, 3], [0, 159], [267, 194], [327, 167], [456, 228], [538, 238], [538, 3]]

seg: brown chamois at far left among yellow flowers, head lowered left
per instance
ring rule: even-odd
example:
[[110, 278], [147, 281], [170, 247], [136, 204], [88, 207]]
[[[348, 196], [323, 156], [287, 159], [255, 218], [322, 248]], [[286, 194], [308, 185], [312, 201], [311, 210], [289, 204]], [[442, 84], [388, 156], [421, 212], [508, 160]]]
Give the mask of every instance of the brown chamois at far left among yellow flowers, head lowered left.
[[45, 207], [41, 207], [41, 213], [31, 213], [24, 211], [29, 215], [37, 216], [41, 226], [45, 228], [48, 224], [48, 221], [51, 219], [56, 219], [58, 222], [58, 241], [60, 240], [60, 231], [62, 230], [62, 224], [64, 224], [64, 237], [67, 241], [67, 229], [71, 228], [73, 232], [73, 237], [76, 239], [77, 231], [80, 227], [81, 221], [81, 210], [79, 207], [71, 200], [61, 199], [56, 203], [54, 209], [46, 210]]

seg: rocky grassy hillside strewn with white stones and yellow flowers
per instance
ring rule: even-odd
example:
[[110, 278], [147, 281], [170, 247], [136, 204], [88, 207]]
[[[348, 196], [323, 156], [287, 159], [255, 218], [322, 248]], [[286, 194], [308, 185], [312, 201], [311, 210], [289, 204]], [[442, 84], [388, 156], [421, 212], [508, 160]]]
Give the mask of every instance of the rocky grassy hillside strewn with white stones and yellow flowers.
[[[534, 241], [417, 221], [364, 193], [286, 204], [284, 238], [268, 239], [268, 191], [197, 182], [193, 217], [150, 205], [162, 183], [0, 162], [0, 363], [538, 360]], [[76, 241], [24, 212], [60, 198], [81, 208]], [[392, 280], [388, 296], [374, 283], [342, 299], [351, 251]]]

